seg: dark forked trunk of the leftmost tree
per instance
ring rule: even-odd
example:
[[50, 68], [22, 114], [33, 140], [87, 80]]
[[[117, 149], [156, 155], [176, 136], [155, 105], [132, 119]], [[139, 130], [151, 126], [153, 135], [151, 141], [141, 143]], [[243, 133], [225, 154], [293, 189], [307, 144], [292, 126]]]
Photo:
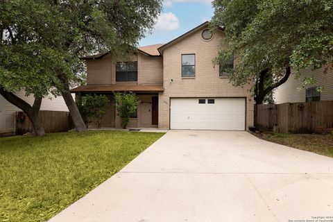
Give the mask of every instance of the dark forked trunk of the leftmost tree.
[[37, 136], [45, 135], [45, 130], [42, 121], [40, 120], [40, 105], [42, 104], [42, 98], [35, 97], [33, 106], [29, 105], [23, 99], [20, 99], [18, 96], [12, 92], [8, 92], [3, 87], [0, 86], [0, 94], [12, 105], [15, 105], [17, 108], [23, 110], [33, 124], [33, 134]]

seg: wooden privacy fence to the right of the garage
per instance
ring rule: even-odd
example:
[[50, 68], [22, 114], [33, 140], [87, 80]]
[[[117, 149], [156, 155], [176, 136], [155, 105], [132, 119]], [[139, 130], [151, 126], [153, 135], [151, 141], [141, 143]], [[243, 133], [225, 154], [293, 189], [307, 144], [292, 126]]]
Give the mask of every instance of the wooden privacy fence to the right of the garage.
[[333, 128], [333, 101], [255, 105], [258, 130], [314, 133]]

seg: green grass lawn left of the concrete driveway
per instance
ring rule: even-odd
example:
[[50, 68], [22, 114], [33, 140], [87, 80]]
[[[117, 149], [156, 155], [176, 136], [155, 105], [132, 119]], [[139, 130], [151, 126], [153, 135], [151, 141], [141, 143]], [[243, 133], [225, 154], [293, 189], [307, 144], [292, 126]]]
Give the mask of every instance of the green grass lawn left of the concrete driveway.
[[0, 138], [0, 222], [47, 221], [162, 135], [90, 131]]

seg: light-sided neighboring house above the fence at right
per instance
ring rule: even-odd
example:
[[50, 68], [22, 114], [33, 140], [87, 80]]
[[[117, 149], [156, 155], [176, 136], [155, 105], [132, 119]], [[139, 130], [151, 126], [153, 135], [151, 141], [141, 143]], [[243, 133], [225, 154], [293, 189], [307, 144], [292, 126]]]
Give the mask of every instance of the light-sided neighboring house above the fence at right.
[[[333, 70], [328, 69], [327, 73], [324, 73], [324, 71], [325, 68], [323, 67], [320, 69], [305, 69], [300, 71], [300, 78], [296, 78], [294, 74], [291, 74], [286, 83], [275, 89], [275, 103], [333, 100]], [[303, 78], [311, 76], [316, 79], [316, 84], [309, 85], [303, 89]], [[317, 92], [317, 87], [323, 87], [323, 91]]]

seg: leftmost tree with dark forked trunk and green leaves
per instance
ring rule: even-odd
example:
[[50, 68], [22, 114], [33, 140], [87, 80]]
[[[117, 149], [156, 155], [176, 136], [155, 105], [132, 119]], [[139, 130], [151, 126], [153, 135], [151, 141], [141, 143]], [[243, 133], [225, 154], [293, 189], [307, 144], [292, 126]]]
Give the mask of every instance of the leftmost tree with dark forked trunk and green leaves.
[[[44, 135], [39, 111], [42, 98], [57, 95], [58, 51], [40, 41], [45, 10], [38, 3], [0, 1], [0, 94], [10, 103], [24, 110], [33, 123], [33, 133]], [[34, 17], [33, 17], [34, 15]], [[45, 21], [47, 22], [47, 20]], [[35, 96], [29, 104], [14, 93], [24, 90]]]

